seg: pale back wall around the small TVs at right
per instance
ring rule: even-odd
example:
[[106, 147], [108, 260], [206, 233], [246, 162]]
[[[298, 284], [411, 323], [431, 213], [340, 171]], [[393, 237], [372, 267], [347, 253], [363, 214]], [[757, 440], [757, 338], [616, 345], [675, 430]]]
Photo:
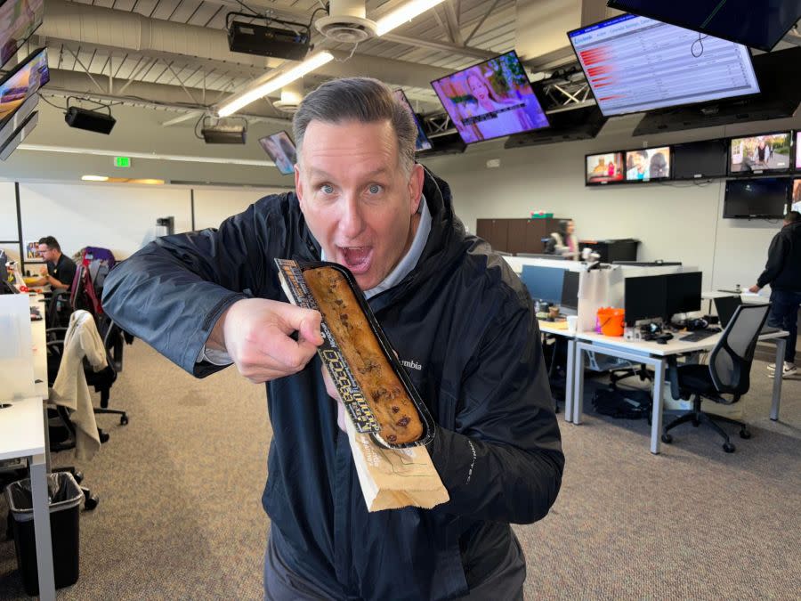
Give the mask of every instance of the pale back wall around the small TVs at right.
[[[724, 180], [587, 187], [585, 155], [739, 134], [801, 129], [801, 118], [632, 138], [638, 118], [611, 120], [595, 140], [504, 150], [484, 142], [464, 155], [425, 160], [454, 194], [470, 231], [476, 219], [527, 217], [543, 209], [576, 221], [580, 238], [636, 238], [638, 258], [681, 261], [704, 272], [705, 288], [751, 285], [781, 223], [723, 219]], [[500, 158], [489, 169], [489, 158]]]

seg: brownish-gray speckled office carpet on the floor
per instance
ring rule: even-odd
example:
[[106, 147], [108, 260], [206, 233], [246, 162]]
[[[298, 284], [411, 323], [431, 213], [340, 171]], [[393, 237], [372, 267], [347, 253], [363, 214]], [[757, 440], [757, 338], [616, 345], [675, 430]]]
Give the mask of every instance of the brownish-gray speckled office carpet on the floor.
[[[545, 520], [515, 527], [526, 597], [798, 599], [801, 378], [785, 382], [774, 423], [765, 363], [753, 374], [744, 401], [753, 438], [732, 428], [732, 455], [685, 426], [655, 457], [644, 420], [590, 412], [571, 426], [560, 415], [562, 492]], [[262, 598], [263, 386], [235, 370], [194, 380], [137, 341], [112, 405], [131, 421], [100, 416], [111, 440], [79, 466], [101, 503], [81, 516], [80, 580], [58, 597]], [[62, 452], [54, 462], [73, 460]], [[13, 544], [0, 541], [0, 598], [24, 598], [15, 570]]]

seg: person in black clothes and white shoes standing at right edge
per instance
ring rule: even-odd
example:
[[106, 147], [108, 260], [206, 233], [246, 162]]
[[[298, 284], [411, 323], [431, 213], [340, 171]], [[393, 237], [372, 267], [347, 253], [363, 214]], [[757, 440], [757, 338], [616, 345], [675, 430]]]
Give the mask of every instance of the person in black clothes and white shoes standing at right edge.
[[[748, 288], [759, 292], [770, 284], [771, 313], [768, 325], [789, 332], [781, 366], [782, 378], [794, 376], [796, 367], [796, 342], [798, 336], [798, 307], [801, 306], [801, 213], [790, 211], [784, 215], [784, 225], [773, 236], [768, 249], [765, 271], [756, 280], [756, 285]], [[775, 365], [768, 365], [775, 372]]]

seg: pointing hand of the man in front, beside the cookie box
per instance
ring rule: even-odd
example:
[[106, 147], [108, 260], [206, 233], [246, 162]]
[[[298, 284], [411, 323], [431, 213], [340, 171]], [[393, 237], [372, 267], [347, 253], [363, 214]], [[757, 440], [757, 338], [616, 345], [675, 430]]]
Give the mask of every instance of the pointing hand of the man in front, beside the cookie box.
[[[290, 337], [295, 331], [297, 342]], [[228, 353], [239, 373], [257, 384], [303, 370], [321, 344], [320, 313], [264, 298], [231, 305], [207, 342]]]

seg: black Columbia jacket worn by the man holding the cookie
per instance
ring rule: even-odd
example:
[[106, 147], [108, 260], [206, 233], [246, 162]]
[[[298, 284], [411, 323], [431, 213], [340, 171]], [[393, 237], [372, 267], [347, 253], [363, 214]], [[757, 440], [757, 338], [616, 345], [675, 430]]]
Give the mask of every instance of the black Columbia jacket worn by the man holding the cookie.
[[[465, 234], [448, 185], [425, 176], [432, 231], [416, 268], [372, 297], [437, 422], [429, 447], [450, 501], [368, 513], [318, 358], [267, 385], [273, 438], [263, 505], [279, 555], [342, 597], [464, 595], [522, 554], [509, 523], [546, 516], [564, 458], [530, 297], [489, 245]], [[103, 307], [199, 377], [214, 321], [245, 295], [284, 300], [273, 257], [319, 259], [293, 193], [259, 200], [220, 229], [159, 239], [109, 274]], [[512, 558], [510, 560], [510, 557]], [[522, 585], [522, 581], [518, 586]]]

